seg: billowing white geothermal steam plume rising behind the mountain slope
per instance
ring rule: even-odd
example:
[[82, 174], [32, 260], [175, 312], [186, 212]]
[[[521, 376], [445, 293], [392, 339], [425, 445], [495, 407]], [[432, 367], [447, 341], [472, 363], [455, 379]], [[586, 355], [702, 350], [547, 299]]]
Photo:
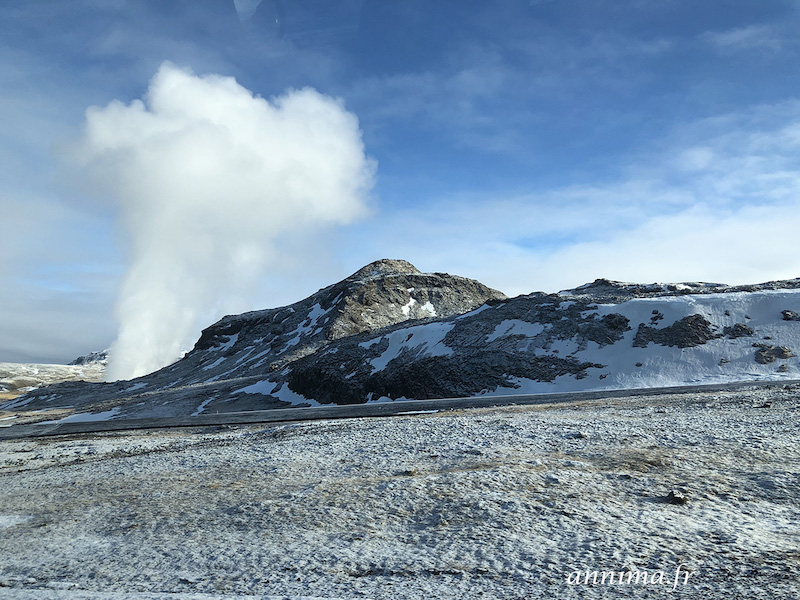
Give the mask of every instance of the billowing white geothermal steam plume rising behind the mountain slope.
[[373, 178], [341, 102], [308, 88], [266, 100], [166, 63], [144, 101], [87, 110], [79, 158], [130, 239], [108, 380], [178, 359], [267, 275], [278, 236], [364, 215]]

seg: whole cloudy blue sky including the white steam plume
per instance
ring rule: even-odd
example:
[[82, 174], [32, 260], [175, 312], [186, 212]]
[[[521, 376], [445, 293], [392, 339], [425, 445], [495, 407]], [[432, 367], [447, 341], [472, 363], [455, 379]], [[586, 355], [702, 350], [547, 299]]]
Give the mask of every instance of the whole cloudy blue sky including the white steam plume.
[[797, 0], [3, 2], [0, 362], [174, 355], [380, 258], [798, 277], [798, 64]]

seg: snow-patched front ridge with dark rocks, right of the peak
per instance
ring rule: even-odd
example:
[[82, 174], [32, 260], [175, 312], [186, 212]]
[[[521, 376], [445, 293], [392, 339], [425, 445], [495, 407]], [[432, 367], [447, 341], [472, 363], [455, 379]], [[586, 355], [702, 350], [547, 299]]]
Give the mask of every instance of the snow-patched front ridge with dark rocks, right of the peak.
[[[597, 304], [531, 295], [342, 340], [297, 361], [320, 402], [619, 389], [800, 376], [800, 290]], [[276, 378], [277, 379], [277, 378]]]

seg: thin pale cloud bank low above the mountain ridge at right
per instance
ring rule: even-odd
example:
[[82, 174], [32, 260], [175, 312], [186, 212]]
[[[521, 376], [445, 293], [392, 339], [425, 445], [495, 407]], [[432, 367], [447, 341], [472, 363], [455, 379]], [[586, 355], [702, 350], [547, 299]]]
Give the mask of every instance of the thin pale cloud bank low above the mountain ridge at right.
[[513, 294], [597, 277], [796, 277], [799, 156], [800, 102], [759, 107], [676, 129], [615, 182], [437, 199], [385, 215], [392, 225], [365, 235], [364, 247]]

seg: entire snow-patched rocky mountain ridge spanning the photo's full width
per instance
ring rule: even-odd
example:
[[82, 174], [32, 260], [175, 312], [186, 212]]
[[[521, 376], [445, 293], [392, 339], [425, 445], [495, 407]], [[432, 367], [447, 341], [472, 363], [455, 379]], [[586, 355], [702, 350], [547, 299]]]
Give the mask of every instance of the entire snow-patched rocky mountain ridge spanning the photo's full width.
[[509, 299], [474, 280], [382, 260], [290, 306], [225, 317], [150, 375], [66, 382], [0, 408], [68, 405], [135, 418], [791, 379], [800, 375], [799, 313], [800, 279], [738, 287], [598, 279]]

